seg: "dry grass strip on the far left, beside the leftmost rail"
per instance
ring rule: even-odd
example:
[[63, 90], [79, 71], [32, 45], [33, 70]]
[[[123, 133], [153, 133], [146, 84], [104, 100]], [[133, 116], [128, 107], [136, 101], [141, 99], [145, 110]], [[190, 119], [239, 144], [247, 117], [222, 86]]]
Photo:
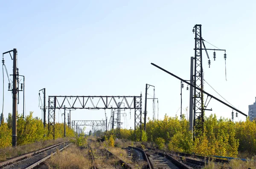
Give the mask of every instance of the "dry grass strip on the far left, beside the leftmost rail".
[[64, 141], [67, 141], [67, 138], [58, 138], [56, 140], [40, 141], [40, 142], [35, 142], [32, 144], [26, 144], [26, 145], [17, 146], [17, 147], [6, 147], [3, 149], [0, 149], [0, 161], [6, 161], [9, 158], [14, 158], [19, 155], [27, 154], [29, 152], [43, 149], [47, 146], [58, 144]]

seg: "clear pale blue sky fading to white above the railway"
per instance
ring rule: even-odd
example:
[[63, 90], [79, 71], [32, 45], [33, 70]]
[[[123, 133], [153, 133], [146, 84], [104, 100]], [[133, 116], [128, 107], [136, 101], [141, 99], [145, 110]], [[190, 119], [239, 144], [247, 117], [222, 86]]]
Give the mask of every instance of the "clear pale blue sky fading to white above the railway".
[[[0, 51], [18, 50], [19, 71], [26, 76], [26, 114], [34, 111], [34, 116], [41, 117], [38, 90], [44, 87], [47, 101], [49, 95], [137, 96], [142, 92], [144, 107], [148, 83], [156, 86], [159, 117], [163, 118], [165, 114], [175, 116], [180, 107], [180, 81], [150, 63], [189, 79], [190, 57], [194, 56], [192, 29], [201, 24], [202, 37], [227, 50], [227, 82], [222, 52], [215, 62], [209, 52], [211, 68], [203, 53], [205, 80], [247, 114], [256, 96], [255, 7], [253, 0], [1, 2]], [[11, 74], [12, 61], [8, 55], [5, 60]], [[12, 98], [7, 79], [5, 82], [6, 118], [12, 112]], [[207, 84], [204, 89], [220, 98]], [[2, 89], [0, 96], [2, 103]], [[151, 105], [148, 101], [150, 118]], [[188, 106], [189, 92], [184, 89], [183, 109]], [[213, 111], [207, 116], [231, 117], [232, 110], [213, 99], [208, 108]], [[22, 109], [20, 104], [19, 113]], [[110, 111], [107, 115], [110, 117]], [[56, 118], [58, 121], [58, 110]], [[72, 115], [72, 120], [101, 119], [105, 119], [104, 110]], [[132, 115], [123, 127], [133, 127], [133, 120]]]

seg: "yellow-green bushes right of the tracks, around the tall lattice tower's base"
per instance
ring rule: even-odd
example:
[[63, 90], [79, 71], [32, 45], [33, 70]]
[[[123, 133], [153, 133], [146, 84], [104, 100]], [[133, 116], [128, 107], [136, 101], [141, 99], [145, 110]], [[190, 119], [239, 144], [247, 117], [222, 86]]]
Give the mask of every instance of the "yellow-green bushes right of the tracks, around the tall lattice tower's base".
[[255, 121], [233, 123], [227, 118], [217, 119], [216, 115], [205, 118], [204, 133], [197, 133], [195, 141], [184, 117], [180, 120], [166, 115], [163, 120], [150, 120], [146, 126], [148, 141], [160, 146], [161, 138], [171, 151], [229, 157], [237, 157], [239, 151], [256, 153], [255, 130]]

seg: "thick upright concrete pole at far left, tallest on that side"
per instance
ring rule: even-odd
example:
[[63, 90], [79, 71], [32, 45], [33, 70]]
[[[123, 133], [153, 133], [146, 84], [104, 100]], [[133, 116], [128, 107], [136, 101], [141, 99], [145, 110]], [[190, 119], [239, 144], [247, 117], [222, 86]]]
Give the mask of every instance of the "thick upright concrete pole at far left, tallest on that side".
[[17, 49], [13, 49], [13, 86], [12, 86], [12, 146], [17, 146]]

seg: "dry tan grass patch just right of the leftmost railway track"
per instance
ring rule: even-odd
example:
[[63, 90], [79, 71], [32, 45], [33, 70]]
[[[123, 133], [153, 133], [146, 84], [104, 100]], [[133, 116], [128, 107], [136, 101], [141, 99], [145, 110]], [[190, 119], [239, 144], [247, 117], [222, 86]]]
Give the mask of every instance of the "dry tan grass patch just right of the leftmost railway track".
[[79, 149], [74, 144], [62, 152], [58, 151], [46, 164], [49, 169], [90, 169], [92, 167], [87, 149]]

